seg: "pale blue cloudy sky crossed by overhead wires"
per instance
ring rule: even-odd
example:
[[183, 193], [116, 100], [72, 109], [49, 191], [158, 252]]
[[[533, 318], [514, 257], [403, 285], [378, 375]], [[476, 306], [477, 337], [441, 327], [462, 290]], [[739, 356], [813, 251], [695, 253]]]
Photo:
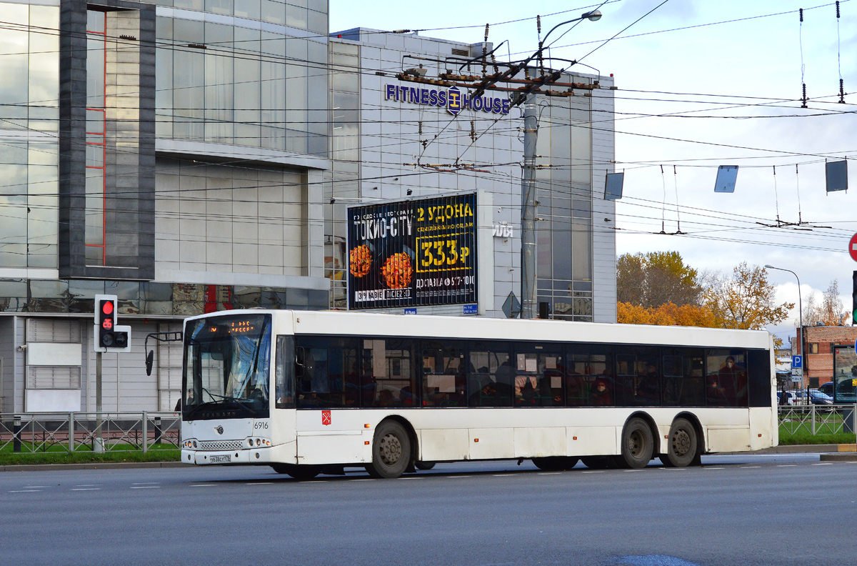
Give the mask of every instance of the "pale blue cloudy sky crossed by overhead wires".
[[[740, 262], [770, 264], [800, 277], [803, 304], [812, 292], [820, 301], [838, 280], [851, 309], [857, 165], [848, 161], [852, 190], [828, 194], [824, 163], [857, 158], [857, 1], [840, 2], [838, 22], [835, 3], [824, 0], [367, 5], [331, 0], [331, 32], [417, 29], [476, 43], [488, 23], [488, 41], [508, 40], [512, 58], [536, 49], [536, 15], [545, 33], [600, 9], [599, 21], [558, 28], [551, 54], [590, 65], [577, 67], [584, 72], [613, 74], [618, 87], [615, 167], [625, 184], [616, 205], [617, 254], [675, 250], [693, 268], [721, 274]], [[838, 103], [840, 76], [845, 104]], [[714, 192], [722, 165], [739, 166], [734, 193]], [[769, 280], [777, 303], [799, 302], [794, 274], [770, 270]], [[794, 334], [797, 314], [795, 307], [769, 329]]]

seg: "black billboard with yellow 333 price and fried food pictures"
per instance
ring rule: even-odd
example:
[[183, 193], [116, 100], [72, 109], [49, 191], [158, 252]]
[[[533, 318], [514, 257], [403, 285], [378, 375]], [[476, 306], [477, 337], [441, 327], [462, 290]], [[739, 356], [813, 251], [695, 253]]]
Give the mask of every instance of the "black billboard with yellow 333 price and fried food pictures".
[[348, 209], [348, 308], [476, 302], [476, 193]]

